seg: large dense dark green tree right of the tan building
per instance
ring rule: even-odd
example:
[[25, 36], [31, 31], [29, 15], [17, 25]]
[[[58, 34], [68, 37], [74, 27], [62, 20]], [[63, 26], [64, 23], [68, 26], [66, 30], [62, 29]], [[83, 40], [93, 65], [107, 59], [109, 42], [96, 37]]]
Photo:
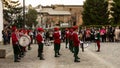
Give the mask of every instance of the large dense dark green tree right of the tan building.
[[105, 25], [108, 24], [108, 1], [86, 0], [84, 3], [83, 24], [84, 25]]

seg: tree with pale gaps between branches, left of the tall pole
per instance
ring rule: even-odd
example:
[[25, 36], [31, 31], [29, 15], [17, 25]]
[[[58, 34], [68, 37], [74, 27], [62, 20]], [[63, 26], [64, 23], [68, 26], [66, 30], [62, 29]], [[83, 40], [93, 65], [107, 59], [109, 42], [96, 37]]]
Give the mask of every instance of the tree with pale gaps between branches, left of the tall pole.
[[20, 7], [19, 1], [3, 0], [3, 17], [9, 24], [16, 24], [17, 26], [17, 23], [19, 23], [18, 17], [21, 15], [21, 12], [22, 7]]

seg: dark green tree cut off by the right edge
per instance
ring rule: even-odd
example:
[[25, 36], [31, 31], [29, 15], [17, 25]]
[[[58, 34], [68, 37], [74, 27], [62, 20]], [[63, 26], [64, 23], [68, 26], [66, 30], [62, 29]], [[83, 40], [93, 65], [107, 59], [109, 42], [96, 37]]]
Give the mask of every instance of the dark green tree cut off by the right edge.
[[120, 0], [113, 0], [113, 3], [111, 3], [111, 23], [113, 24], [119, 24], [120, 23]]

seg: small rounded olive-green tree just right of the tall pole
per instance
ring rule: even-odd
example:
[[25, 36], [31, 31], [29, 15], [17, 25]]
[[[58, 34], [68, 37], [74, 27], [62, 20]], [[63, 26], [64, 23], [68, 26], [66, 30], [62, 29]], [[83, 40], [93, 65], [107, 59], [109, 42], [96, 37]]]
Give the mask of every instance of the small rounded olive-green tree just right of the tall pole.
[[32, 25], [36, 26], [37, 22], [37, 11], [35, 9], [30, 8], [28, 10], [28, 13], [26, 14], [26, 22], [25, 24], [29, 27], [32, 27]]

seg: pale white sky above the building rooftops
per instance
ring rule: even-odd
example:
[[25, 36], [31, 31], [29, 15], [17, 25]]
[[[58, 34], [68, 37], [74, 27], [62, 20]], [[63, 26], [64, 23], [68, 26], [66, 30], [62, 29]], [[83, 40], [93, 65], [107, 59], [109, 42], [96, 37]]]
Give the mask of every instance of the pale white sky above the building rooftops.
[[[23, 4], [23, 0], [19, 0]], [[25, 0], [25, 4], [31, 4], [33, 7], [37, 5], [51, 5], [51, 4], [63, 4], [63, 5], [83, 5], [85, 0]]]

